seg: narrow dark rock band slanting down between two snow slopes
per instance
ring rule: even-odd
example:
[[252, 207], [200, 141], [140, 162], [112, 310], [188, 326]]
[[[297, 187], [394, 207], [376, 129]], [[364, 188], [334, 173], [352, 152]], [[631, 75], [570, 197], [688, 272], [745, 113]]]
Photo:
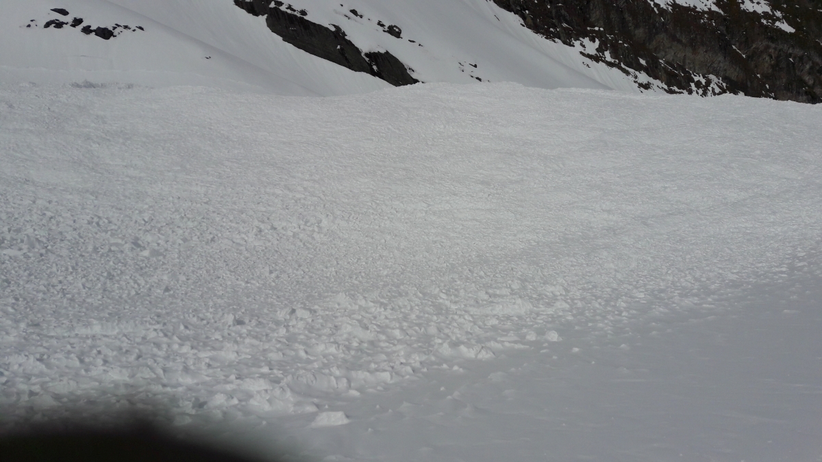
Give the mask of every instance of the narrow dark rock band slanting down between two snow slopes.
[[266, 25], [272, 32], [282, 37], [286, 43], [316, 57], [348, 67], [352, 71], [371, 74], [395, 86], [418, 82], [394, 55], [388, 52], [363, 54], [339, 26], [335, 25], [334, 30], [331, 30], [308, 21], [303, 17], [307, 13], [284, 11], [279, 8], [283, 6], [283, 2], [274, 2], [269, 6], [270, 0], [234, 0], [234, 4], [254, 16], [266, 16]]

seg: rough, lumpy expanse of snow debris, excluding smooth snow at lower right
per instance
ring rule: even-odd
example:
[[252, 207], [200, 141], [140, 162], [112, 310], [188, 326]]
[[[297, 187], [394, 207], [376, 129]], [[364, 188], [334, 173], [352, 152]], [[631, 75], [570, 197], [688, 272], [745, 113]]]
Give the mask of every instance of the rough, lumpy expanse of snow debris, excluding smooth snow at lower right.
[[513, 84], [4, 85], [0, 415], [259, 422], [727, 310], [819, 275], [820, 122]]

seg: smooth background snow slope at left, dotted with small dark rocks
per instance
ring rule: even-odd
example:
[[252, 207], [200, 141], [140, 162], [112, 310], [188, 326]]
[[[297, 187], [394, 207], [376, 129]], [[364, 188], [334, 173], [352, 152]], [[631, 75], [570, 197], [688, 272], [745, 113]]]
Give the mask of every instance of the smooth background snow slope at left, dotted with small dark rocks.
[[[203, 85], [279, 95], [342, 95], [390, 86], [284, 44], [232, 2], [196, 2], [182, 18], [162, 9], [145, 16], [106, 0], [6, 3], [0, 17], [0, 81]], [[55, 7], [70, 15], [51, 12]], [[82, 34], [79, 27], [44, 29], [48, 20], [75, 16], [93, 27], [145, 30], [104, 40]], [[185, 21], [198, 23], [194, 30], [206, 40], [191, 35]], [[213, 35], [219, 39], [207, 40]], [[238, 53], [243, 49], [253, 53]]]

